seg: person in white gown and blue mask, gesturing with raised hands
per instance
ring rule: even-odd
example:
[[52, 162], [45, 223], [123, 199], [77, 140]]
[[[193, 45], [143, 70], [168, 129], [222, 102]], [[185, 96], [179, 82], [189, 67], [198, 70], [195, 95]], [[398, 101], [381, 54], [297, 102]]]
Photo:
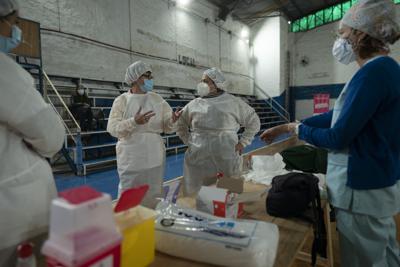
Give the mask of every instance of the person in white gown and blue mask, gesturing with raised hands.
[[118, 96], [111, 108], [107, 131], [118, 138], [118, 194], [143, 184], [150, 186], [142, 204], [154, 208], [162, 196], [165, 146], [161, 133], [175, 132], [180, 111], [153, 90], [149, 65], [137, 61], [126, 70], [128, 92]]

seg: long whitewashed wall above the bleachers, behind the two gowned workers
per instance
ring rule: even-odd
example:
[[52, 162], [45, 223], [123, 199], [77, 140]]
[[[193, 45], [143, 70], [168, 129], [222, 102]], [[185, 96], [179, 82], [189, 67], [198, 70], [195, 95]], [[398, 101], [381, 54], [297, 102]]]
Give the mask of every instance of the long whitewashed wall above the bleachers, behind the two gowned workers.
[[[156, 85], [194, 88], [204, 68], [174, 62], [178, 55], [183, 55], [194, 58], [201, 66], [222, 68], [232, 82], [232, 92], [252, 94], [249, 46], [237, 37], [243, 25], [230, 19], [224, 29], [205, 23], [205, 18], [214, 22], [218, 14], [217, 8], [205, 0], [192, 0], [186, 8], [168, 3], [167, 0], [25, 0], [20, 1], [20, 13], [40, 22], [44, 29], [61, 32], [42, 31], [43, 64], [49, 74], [122, 81], [126, 67], [142, 59], [152, 64]], [[234, 34], [229, 35], [227, 30]]]

